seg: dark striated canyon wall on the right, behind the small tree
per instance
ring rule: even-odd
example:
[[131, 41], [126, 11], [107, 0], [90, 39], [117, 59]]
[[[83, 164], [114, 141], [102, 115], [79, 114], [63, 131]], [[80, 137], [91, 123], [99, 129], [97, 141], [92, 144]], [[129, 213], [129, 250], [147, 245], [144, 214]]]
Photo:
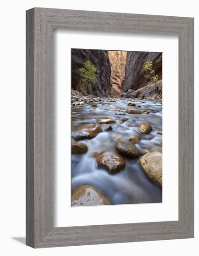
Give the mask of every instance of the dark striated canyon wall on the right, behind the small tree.
[[137, 90], [149, 83], [142, 71], [147, 60], [153, 61], [153, 69], [158, 74], [159, 80], [162, 79], [162, 53], [127, 52], [125, 77], [121, 86], [123, 92], [127, 92], [129, 89]]

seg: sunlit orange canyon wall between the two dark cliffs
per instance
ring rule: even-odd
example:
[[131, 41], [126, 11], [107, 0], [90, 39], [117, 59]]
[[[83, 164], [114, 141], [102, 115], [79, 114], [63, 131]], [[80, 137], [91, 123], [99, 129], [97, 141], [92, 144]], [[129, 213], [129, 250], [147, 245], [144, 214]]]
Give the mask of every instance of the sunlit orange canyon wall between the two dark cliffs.
[[108, 56], [111, 64], [111, 95], [120, 97], [122, 93], [121, 84], [125, 76], [126, 52], [108, 51]]

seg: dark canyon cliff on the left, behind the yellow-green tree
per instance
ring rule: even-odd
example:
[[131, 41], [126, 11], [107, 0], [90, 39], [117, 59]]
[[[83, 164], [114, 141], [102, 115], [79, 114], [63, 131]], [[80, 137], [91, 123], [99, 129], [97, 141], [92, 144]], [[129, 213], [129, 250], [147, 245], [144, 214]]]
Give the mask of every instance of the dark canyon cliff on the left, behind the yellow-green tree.
[[[82, 86], [79, 68], [90, 60], [98, 69], [98, 80], [96, 86], [89, 84], [86, 91]], [[111, 65], [109, 61], [108, 51], [106, 50], [85, 50], [72, 49], [71, 50], [71, 83], [74, 90], [92, 94], [101, 97], [111, 95]]]

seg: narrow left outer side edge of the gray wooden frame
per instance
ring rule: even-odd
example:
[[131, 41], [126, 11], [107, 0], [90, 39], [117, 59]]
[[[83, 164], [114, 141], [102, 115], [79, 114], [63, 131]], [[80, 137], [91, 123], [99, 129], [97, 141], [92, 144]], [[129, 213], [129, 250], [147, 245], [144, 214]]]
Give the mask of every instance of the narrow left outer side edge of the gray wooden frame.
[[26, 237], [34, 246], [34, 10], [26, 17]]

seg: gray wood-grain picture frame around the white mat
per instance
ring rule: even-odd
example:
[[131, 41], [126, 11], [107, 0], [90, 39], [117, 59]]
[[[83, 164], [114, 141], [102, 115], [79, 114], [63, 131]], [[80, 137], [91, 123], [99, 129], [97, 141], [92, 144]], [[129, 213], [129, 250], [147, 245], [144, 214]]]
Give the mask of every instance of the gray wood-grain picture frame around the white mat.
[[[185, 17], [128, 13], [27, 10], [28, 246], [43, 248], [194, 236], [193, 21]], [[178, 221], [53, 227], [53, 29], [179, 36]]]

